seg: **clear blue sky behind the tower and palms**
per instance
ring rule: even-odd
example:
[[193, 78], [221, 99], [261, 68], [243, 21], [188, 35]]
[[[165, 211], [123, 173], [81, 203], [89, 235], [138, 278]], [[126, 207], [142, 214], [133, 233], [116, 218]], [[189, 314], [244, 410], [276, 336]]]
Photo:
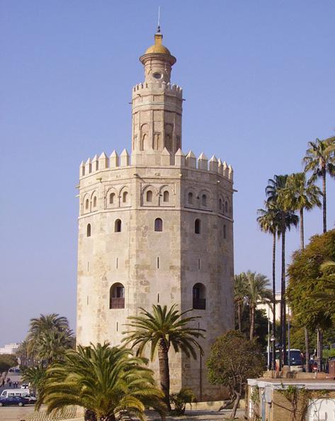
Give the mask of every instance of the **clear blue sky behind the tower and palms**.
[[[271, 277], [271, 238], [256, 209], [268, 178], [300, 171], [307, 142], [334, 135], [335, 2], [160, 4], [164, 44], [177, 57], [172, 79], [186, 98], [183, 151], [232, 164], [235, 272]], [[1, 1], [0, 345], [22, 340], [40, 313], [75, 327], [79, 163], [130, 150], [128, 103], [158, 5]], [[330, 228], [335, 180], [328, 186]], [[322, 212], [305, 224], [307, 238], [321, 232]], [[293, 231], [288, 260], [298, 245]]]

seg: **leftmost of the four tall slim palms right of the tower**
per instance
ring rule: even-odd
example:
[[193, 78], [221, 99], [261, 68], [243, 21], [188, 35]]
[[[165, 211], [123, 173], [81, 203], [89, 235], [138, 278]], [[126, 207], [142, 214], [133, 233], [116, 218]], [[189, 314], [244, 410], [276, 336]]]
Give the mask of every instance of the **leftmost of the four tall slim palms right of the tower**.
[[[280, 210], [275, 207], [272, 203], [265, 202], [266, 209], [258, 209], [257, 213], [259, 217], [257, 218], [257, 222], [261, 228], [261, 231], [266, 233], [271, 233], [273, 236], [273, 243], [272, 243], [272, 315], [273, 315], [273, 338], [276, 338], [276, 235], [280, 230]], [[273, 346], [275, 344], [273, 343]], [[273, 350], [273, 356], [275, 352]], [[273, 369], [275, 359], [273, 357]]]

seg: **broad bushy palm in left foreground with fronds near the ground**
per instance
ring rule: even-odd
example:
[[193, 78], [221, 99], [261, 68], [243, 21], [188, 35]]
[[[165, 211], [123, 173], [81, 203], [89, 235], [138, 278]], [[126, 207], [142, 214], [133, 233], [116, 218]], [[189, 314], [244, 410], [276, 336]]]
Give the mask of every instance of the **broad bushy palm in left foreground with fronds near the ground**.
[[93, 419], [115, 421], [122, 411], [145, 420], [145, 406], [164, 413], [163, 394], [154, 386], [153, 373], [143, 367], [144, 359], [130, 350], [107, 343], [67, 350], [64, 362], [47, 369], [45, 388], [38, 399], [47, 413], [67, 405], [79, 405]]

